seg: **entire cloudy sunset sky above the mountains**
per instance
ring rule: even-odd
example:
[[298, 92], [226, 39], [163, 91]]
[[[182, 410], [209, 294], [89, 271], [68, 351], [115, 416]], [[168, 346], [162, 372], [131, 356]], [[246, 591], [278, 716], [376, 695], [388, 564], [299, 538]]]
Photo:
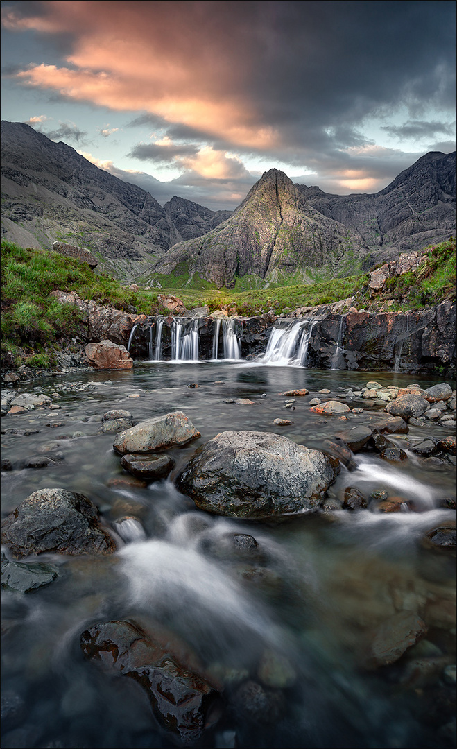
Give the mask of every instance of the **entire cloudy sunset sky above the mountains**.
[[456, 150], [454, 0], [2, 0], [1, 118], [160, 204], [378, 192]]

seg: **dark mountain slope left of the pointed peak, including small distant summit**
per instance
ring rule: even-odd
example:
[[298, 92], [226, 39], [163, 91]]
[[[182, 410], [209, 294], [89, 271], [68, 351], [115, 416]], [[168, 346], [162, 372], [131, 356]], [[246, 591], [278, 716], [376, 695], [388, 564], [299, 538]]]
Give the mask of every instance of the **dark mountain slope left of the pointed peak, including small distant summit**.
[[124, 182], [20, 122], [1, 122], [1, 236], [52, 248], [62, 240], [91, 249], [102, 270], [136, 279], [172, 244], [199, 237], [231, 211], [176, 196], [162, 207]]

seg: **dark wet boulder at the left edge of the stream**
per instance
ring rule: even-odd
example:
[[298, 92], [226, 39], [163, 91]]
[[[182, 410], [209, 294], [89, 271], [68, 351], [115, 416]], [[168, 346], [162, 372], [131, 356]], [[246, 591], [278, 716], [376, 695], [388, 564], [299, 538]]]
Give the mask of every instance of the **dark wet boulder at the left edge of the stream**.
[[1, 524], [1, 543], [15, 559], [29, 554], [111, 554], [115, 542], [84, 494], [40, 489], [26, 497]]

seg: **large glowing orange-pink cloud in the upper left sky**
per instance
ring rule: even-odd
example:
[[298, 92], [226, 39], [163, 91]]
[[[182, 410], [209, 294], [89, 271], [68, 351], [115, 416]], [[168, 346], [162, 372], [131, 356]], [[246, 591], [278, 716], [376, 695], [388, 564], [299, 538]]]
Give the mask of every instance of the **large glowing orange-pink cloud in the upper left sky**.
[[253, 104], [239, 93], [240, 61], [208, 36], [208, 13], [202, 9], [200, 28], [199, 4], [173, 5], [172, 24], [169, 3], [161, 2], [110, 3], [107, 13], [106, 2], [49, 0], [40, 3], [43, 16], [28, 18], [8, 8], [3, 23], [10, 30], [34, 28], [74, 38], [67, 56], [74, 69], [33, 65], [16, 79], [76, 101], [147, 111], [244, 148], [277, 145], [279, 134], [258, 127]]

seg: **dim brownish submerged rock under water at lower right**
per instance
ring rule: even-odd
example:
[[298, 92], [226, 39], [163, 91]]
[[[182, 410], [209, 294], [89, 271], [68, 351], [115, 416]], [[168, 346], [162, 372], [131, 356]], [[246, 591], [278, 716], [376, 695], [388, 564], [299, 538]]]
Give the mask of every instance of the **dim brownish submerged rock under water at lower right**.
[[366, 665], [387, 666], [398, 661], [408, 648], [426, 634], [426, 623], [413, 611], [401, 611], [390, 616], [375, 631]]

